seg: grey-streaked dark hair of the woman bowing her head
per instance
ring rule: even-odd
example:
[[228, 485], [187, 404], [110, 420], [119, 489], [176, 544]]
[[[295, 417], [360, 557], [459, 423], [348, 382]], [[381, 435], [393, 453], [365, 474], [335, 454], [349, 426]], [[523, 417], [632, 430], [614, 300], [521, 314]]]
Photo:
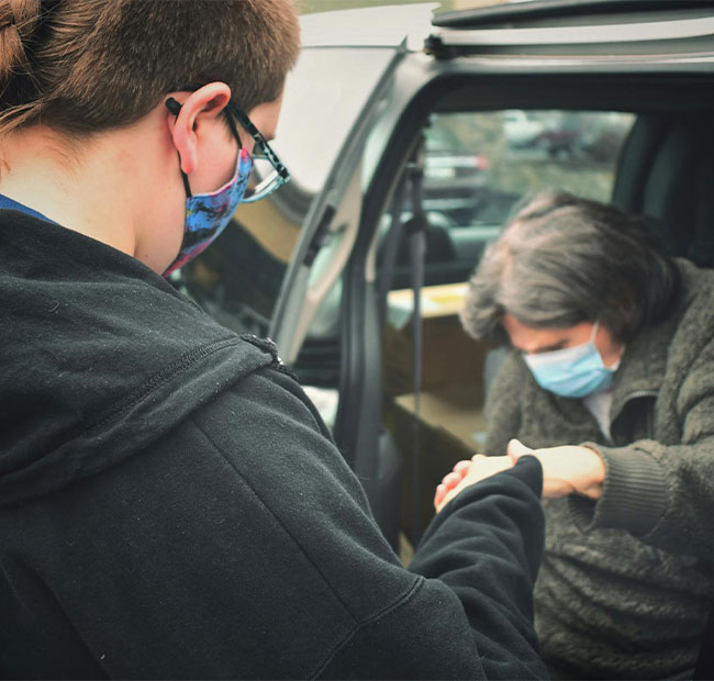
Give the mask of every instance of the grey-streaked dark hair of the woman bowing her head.
[[599, 321], [626, 343], [669, 313], [679, 287], [677, 264], [649, 219], [548, 191], [486, 250], [461, 322], [476, 338], [502, 343], [506, 313], [534, 328]]

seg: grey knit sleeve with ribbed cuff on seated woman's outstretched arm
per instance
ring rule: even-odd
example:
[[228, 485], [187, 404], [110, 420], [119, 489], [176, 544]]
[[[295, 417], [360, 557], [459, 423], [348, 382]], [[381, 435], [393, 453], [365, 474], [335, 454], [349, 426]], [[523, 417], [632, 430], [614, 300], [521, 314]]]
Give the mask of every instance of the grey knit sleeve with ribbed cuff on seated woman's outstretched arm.
[[603, 494], [596, 503], [574, 495], [569, 502], [585, 531], [626, 529], [667, 551], [714, 560], [714, 340], [692, 354], [669, 415], [680, 442], [584, 443], [605, 461]]

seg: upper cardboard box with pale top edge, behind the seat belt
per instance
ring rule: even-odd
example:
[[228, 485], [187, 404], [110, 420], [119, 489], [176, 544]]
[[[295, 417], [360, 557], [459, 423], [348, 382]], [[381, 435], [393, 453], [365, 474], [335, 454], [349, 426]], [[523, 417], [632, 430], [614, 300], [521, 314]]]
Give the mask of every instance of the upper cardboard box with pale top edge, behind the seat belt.
[[[468, 336], [458, 319], [466, 283], [422, 290], [422, 390], [446, 384], [483, 382], [487, 346]], [[414, 387], [413, 292], [391, 291], [384, 325], [384, 391], [399, 395]]]

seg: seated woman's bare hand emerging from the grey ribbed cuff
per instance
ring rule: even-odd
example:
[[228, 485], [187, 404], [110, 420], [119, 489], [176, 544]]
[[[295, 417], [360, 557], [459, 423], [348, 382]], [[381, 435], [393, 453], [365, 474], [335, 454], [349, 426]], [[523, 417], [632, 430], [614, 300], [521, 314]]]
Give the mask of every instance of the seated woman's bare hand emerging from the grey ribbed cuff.
[[566, 445], [531, 449], [517, 439], [509, 443], [507, 454], [515, 464], [522, 456], [531, 455], [543, 467], [543, 496], [558, 499], [567, 494], [582, 494], [600, 499], [605, 480], [605, 464], [588, 447]]

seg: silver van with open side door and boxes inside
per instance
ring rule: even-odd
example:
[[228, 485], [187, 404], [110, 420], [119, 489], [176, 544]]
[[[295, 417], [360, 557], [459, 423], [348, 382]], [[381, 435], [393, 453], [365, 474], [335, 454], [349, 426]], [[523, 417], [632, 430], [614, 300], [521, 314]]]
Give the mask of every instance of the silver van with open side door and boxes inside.
[[714, 266], [713, 8], [526, 0], [302, 16], [275, 142], [292, 180], [239, 206], [174, 282], [277, 343], [393, 546], [419, 540], [444, 467], [482, 436], [498, 359], [459, 335], [455, 311], [524, 197], [555, 187], [649, 214], [676, 255]]

